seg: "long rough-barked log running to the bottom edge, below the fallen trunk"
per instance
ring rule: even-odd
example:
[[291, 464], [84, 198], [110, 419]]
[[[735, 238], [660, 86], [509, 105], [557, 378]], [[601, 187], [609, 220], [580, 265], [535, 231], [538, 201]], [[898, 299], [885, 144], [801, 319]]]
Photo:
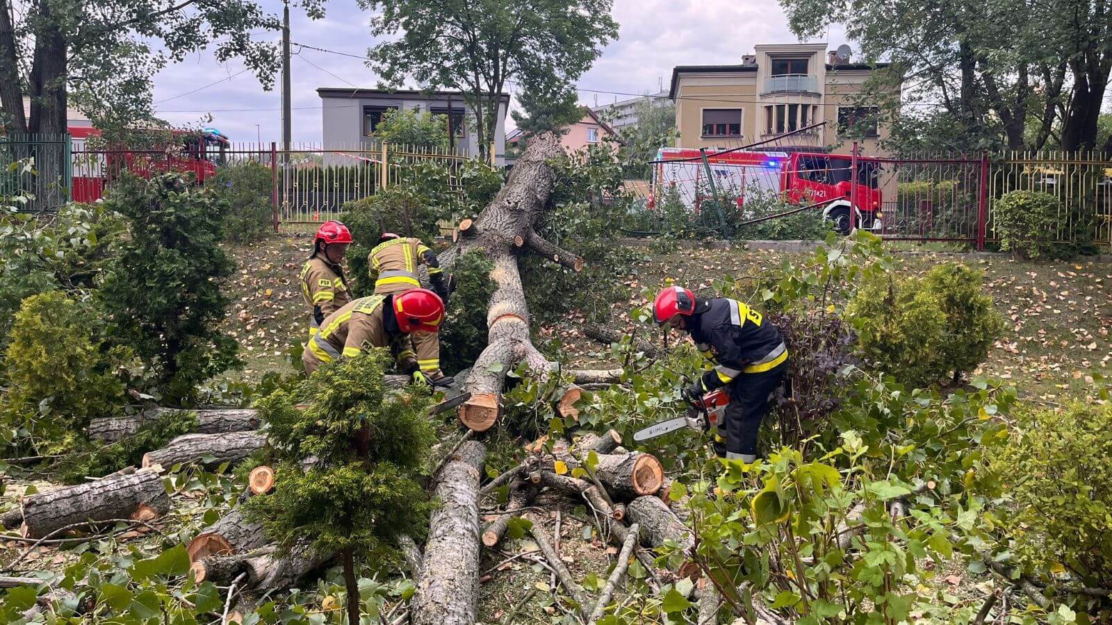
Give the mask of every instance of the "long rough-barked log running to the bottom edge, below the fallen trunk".
[[439, 473], [425, 562], [413, 597], [415, 625], [471, 625], [478, 607], [478, 488], [486, 447], [460, 445]]

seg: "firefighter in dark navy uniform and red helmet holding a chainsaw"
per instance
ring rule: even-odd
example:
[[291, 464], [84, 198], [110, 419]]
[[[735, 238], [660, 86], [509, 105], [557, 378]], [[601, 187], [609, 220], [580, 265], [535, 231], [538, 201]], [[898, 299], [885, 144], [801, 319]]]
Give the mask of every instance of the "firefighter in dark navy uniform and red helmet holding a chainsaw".
[[691, 397], [727, 387], [729, 405], [715, 434], [715, 454], [754, 462], [768, 396], [787, 370], [787, 346], [780, 329], [741, 301], [695, 297], [683, 287], [668, 287], [656, 296], [653, 318], [687, 331], [712, 366], [685, 389]]

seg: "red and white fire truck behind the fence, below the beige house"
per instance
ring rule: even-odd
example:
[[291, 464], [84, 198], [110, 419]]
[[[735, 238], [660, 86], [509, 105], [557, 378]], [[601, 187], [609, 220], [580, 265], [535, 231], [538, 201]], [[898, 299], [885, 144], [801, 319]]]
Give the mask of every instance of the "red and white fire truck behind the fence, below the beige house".
[[851, 192], [853, 158], [847, 155], [738, 150], [708, 151], [706, 157], [709, 167], [704, 167], [697, 149], [662, 148], [653, 169], [651, 205], [675, 191], [685, 205], [698, 209], [707, 199], [709, 169], [718, 192], [736, 198], [743, 215], [746, 196], [776, 195], [800, 206], [821, 204], [823, 217], [848, 234], [852, 197], [854, 225], [881, 228], [881, 168], [876, 159], [857, 158], [856, 190]]

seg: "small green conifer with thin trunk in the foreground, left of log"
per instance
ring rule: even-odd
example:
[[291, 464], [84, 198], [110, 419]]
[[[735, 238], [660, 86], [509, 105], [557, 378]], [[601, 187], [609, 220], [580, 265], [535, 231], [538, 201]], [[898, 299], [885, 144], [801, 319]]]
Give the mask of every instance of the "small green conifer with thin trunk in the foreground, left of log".
[[396, 536], [419, 538], [433, 509], [418, 480], [437, 440], [433, 398], [388, 395], [387, 363], [385, 349], [329, 363], [295, 391], [260, 400], [279, 460], [277, 486], [246, 504], [282, 553], [339, 554], [348, 608], [357, 612], [355, 562], [396, 562]]

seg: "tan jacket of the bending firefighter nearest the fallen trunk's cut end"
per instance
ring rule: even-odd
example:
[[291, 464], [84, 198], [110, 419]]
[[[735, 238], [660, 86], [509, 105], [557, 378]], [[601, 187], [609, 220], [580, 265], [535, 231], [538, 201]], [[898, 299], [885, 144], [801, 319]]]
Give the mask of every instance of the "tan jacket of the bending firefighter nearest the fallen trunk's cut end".
[[[408, 335], [391, 335], [386, 330], [386, 315], [393, 298], [383, 295], [360, 297], [344, 305], [325, 318], [320, 331], [306, 346], [302, 360], [306, 369], [315, 369], [321, 363], [330, 363], [341, 356], [358, 356], [375, 347], [389, 347], [398, 361], [398, 367], [411, 373], [423, 359], [439, 359], [439, 350], [423, 353], [426, 347], [417, 345], [417, 354], [409, 350]], [[434, 335], [435, 337], [435, 335]], [[433, 346], [438, 341], [434, 340]], [[311, 367], [310, 367], [311, 365]]]

